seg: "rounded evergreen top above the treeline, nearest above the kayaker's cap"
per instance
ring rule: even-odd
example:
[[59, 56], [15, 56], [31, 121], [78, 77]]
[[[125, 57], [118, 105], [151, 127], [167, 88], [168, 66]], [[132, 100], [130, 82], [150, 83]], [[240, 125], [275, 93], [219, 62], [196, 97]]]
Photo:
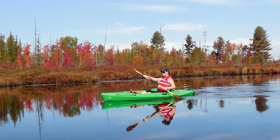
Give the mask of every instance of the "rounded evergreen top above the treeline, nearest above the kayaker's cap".
[[150, 43], [151, 46], [153, 47], [153, 49], [161, 49], [161, 50], [164, 50], [164, 43], [165, 39], [164, 37], [162, 36], [162, 34], [160, 34], [160, 32], [158, 31], [155, 31], [153, 37], [151, 38], [151, 41]]

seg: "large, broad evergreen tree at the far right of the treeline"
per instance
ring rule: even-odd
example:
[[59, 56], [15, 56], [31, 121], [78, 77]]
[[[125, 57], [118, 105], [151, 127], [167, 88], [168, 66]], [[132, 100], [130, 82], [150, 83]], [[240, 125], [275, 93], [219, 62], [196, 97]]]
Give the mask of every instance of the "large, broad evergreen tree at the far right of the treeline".
[[266, 30], [263, 29], [263, 27], [256, 27], [253, 38], [250, 39], [250, 41], [253, 41], [253, 43], [250, 43], [250, 50], [252, 50], [253, 54], [253, 62], [263, 62], [263, 60], [268, 60], [270, 54], [268, 54], [268, 51], [272, 48], [270, 47], [271, 43], [269, 43], [271, 40], [268, 40], [269, 36], [266, 33]]

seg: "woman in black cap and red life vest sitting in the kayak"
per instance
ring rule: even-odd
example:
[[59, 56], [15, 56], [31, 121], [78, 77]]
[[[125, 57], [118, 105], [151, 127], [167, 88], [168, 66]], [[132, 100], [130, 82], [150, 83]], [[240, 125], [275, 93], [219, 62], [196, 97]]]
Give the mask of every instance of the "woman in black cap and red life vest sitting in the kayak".
[[171, 91], [172, 89], [175, 89], [175, 83], [174, 83], [174, 78], [171, 76], [171, 72], [169, 71], [168, 68], [163, 68], [160, 70], [162, 73], [162, 78], [154, 78], [151, 76], [144, 75], [145, 78], [150, 78], [151, 80], [158, 82], [159, 85], [161, 85], [163, 88], [160, 86], [157, 86], [157, 91], [152, 91], [152, 90], [146, 90], [146, 91], [135, 91], [130, 89], [130, 92], [135, 93], [135, 94], [145, 94], [145, 93], [157, 93], [157, 92], [167, 92], [166, 90]]

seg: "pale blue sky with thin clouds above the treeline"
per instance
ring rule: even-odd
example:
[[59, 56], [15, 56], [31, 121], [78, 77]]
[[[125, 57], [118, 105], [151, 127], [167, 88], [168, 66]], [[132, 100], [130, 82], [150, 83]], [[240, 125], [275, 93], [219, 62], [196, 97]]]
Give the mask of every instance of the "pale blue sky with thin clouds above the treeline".
[[[277, 10], [278, 9], [278, 10]], [[15, 1], [1, 0], [0, 33], [12, 34], [32, 44], [34, 17], [42, 44], [60, 37], [76, 36], [106, 48], [131, 48], [135, 41], [150, 45], [160, 30], [167, 50], [179, 49], [190, 34], [199, 45], [213, 46], [218, 36], [237, 44], [249, 44], [257, 26], [267, 30], [270, 54], [280, 55], [280, 0], [108, 0], [108, 1]], [[212, 50], [212, 48], [210, 48]]]

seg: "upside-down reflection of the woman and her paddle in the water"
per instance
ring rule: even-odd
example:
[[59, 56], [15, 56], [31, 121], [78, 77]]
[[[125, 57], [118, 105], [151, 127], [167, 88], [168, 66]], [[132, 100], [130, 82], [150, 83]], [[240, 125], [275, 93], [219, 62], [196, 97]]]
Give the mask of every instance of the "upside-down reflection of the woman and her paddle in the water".
[[171, 120], [173, 119], [173, 116], [175, 115], [176, 106], [173, 106], [172, 104], [178, 102], [180, 100], [175, 100], [171, 103], [165, 103], [165, 104], [157, 104], [158, 111], [153, 113], [150, 116], [147, 116], [145, 119], [143, 119], [141, 122], [135, 123], [134, 125], [130, 125], [126, 128], [126, 131], [129, 132], [132, 129], [134, 129], [136, 126], [141, 124], [142, 122], [147, 121], [150, 118], [153, 118], [154, 116], [163, 116], [162, 124], [169, 125]]

